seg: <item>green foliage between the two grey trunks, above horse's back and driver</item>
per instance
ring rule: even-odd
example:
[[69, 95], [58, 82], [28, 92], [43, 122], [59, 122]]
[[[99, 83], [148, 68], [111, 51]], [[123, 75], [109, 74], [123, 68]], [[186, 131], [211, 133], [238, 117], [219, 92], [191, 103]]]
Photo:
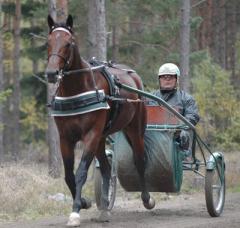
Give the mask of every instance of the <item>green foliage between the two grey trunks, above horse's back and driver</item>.
[[109, 30], [115, 26], [119, 34], [116, 61], [130, 65], [144, 84], [155, 87], [159, 66], [179, 62], [179, 1], [109, 0], [106, 5]]

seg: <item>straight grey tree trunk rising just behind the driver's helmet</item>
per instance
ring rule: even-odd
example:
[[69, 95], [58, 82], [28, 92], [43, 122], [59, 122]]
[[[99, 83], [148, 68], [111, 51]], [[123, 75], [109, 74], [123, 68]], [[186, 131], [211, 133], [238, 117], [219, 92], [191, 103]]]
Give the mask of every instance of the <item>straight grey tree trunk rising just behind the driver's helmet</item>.
[[180, 43], [180, 88], [186, 91], [190, 91], [190, 0], [182, 0]]

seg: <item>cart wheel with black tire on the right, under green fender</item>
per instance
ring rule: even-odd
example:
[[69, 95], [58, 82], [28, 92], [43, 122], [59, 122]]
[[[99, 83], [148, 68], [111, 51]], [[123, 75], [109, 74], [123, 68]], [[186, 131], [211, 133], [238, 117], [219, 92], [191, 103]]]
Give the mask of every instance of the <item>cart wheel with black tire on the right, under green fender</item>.
[[220, 158], [217, 159], [217, 167], [214, 170], [206, 170], [205, 198], [207, 210], [210, 216], [219, 217], [223, 211], [225, 202], [225, 167]]

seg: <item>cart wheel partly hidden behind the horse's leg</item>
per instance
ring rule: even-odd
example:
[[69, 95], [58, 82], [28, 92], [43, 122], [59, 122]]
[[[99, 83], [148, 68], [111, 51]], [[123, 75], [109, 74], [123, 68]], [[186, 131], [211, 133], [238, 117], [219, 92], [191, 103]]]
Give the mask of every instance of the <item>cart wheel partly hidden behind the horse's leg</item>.
[[[95, 180], [94, 180], [94, 187], [95, 187], [95, 200], [97, 208], [100, 210], [100, 202], [101, 202], [101, 195], [102, 195], [102, 174], [100, 171], [100, 168], [95, 169]], [[117, 177], [112, 176], [110, 179], [110, 185], [109, 185], [109, 192], [108, 192], [108, 210], [112, 210], [116, 198], [116, 190], [117, 190]]]

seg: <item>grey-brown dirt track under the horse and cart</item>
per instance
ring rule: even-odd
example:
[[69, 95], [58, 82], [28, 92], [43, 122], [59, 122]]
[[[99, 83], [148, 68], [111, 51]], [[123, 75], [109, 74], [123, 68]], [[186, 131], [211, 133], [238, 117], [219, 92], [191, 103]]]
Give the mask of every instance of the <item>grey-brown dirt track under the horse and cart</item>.
[[[156, 207], [147, 211], [140, 200], [122, 201], [118, 198], [112, 211], [111, 221], [97, 223], [98, 211], [94, 205], [82, 211], [81, 227], [114, 228], [176, 228], [176, 227], [240, 227], [240, 193], [227, 193], [224, 212], [219, 218], [211, 218], [205, 206], [204, 194], [174, 196], [170, 200], [156, 202]], [[67, 217], [52, 217], [31, 222], [5, 223], [0, 228], [66, 227]]]

